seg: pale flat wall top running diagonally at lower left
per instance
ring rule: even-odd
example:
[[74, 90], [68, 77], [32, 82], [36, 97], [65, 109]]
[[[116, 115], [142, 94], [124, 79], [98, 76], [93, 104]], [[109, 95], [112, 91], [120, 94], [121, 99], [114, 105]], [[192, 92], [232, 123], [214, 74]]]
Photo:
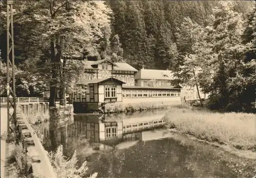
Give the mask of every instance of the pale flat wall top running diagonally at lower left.
[[27, 121], [26, 117], [24, 116], [24, 114], [22, 112], [20, 112], [20, 115], [22, 116], [26, 126], [28, 127], [32, 139], [34, 141], [35, 144], [35, 148], [38, 151], [40, 160], [41, 160], [41, 166], [42, 169], [44, 170], [44, 174], [46, 175], [46, 177], [57, 177], [56, 173], [53, 170], [53, 167], [51, 165], [51, 162], [49, 160], [48, 155], [46, 154], [46, 151], [44, 149], [44, 147], [42, 146], [41, 142], [39, 141], [34, 129], [31, 127], [31, 125], [29, 124], [29, 122]]

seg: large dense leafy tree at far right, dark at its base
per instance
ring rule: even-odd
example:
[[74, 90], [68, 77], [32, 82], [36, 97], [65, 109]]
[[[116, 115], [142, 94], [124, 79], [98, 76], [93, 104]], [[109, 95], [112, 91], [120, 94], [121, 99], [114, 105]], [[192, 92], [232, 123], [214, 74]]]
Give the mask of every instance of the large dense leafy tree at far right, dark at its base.
[[[248, 108], [246, 90], [255, 84], [255, 74], [248, 73], [255, 68], [255, 61], [246, 60], [246, 53], [255, 47], [253, 41], [243, 43], [245, 21], [242, 14], [234, 11], [235, 5], [232, 1], [221, 2], [207, 28], [208, 44], [217, 56], [210, 64], [214, 70], [212, 85], [216, 88], [211, 98], [219, 98], [217, 109], [243, 111]], [[204, 85], [203, 91], [207, 90]]]

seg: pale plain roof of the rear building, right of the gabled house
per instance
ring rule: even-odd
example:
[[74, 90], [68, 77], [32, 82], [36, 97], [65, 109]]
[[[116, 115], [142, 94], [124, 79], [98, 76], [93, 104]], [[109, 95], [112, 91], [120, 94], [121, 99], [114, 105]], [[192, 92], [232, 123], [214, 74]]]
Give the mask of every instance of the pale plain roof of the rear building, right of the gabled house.
[[135, 76], [134, 79], [155, 79], [155, 80], [172, 80], [172, 71], [164, 70], [152, 70], [152, 69], [141, 69]]

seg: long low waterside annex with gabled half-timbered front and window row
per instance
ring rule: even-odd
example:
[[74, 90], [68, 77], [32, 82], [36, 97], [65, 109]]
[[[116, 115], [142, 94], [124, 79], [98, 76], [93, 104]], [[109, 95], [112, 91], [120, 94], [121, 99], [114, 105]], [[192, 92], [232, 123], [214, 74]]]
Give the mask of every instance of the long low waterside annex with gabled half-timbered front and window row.
[[82, 94], [73, 93], [70, 98], [75, 113], [97, 110], [101, 103], [139, 104], [168, 103], [180, 104], [180, 88], [172, 86], [122, 86], [123, 81], [110, 77], [84, 80], [77, 85], [87, 87]]

